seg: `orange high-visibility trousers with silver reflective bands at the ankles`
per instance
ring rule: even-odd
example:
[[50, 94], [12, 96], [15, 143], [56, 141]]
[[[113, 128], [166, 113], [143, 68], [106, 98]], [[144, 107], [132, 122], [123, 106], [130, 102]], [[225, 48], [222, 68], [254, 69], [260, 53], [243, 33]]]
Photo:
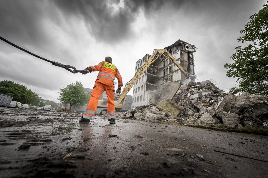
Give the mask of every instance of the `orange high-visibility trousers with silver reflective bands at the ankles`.
[[94, 88], [91, 92], [90, 100], [87, 105], [87, 110], [85, 110], [83, 118], [91, 120], [94, 116], [99, 98], [101, 97], [103, 91], [106, 91], [108, 98], [107, 104], [107, 117], [108, 119], [116, 118], [115, 105], [114, 105], [114, 87], [102, 84], [101, 82], [95, 82]]

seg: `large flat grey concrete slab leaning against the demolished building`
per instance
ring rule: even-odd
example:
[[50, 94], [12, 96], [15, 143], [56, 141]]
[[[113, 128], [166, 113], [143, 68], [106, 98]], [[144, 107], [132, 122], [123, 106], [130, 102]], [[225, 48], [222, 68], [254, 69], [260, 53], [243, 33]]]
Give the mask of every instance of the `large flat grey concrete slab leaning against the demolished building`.
[[172, 100], [180, 86], [181, 83], [166, 81], [159, 86], [154, 95], [151, 97], [150, 102], [152, 104], [158, 105], [159, 102], [163, 99], [167, 98]]

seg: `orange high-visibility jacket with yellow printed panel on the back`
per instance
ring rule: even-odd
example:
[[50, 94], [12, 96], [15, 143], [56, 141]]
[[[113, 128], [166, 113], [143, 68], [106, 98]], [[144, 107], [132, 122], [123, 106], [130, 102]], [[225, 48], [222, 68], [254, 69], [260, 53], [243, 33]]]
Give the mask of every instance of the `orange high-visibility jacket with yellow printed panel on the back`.
[[114, 79], [118, 80], [118, 88], [123, 86], [122, 77], [115, 65], [102, 61], [98, 65], [88, 67], [92, 72], [99, 71], [96, 82], [101, 82], [108, 86], [114, 86]]

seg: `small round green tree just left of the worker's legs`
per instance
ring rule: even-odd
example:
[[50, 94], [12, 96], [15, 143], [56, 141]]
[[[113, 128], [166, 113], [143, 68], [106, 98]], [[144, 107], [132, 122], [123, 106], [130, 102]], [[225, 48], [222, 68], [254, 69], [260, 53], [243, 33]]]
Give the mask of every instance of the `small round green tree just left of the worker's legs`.
[[61, 88], [59, 93], [59, 101], [70, 104], [70, 110], [73, 105], [81, 106], [88, 101], [88, 95], [85, 94], [81, 82], [75, 82], [66, 88]]

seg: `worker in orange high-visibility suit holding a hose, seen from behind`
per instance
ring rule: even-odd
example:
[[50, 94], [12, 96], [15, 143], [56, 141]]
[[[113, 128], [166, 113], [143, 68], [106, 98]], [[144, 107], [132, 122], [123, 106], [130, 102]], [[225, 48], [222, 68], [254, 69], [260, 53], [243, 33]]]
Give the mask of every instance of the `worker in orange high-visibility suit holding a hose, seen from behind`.
[[108, 121], [110, 121], [110, 124], [115, 124], [116, 114], [114, 105], [114, 79], [117, 78], [118, 80], [118, 89], [116, 90], [116, 93], [121, 93], [123, 81], [118, 69], [115, 65], [112, 64], [112, 58], [105, 57], [105, 61], [99, 63], [98, 65], [87, 67], [85, 68], [85, 70], [88, 70], [90, 73], [99, 71], [99, 74], [91, 92], [91, 97], [87, 105], [87, 110], [85, 110], [84, 115], [80, 118], [79, 122], [81, 122], [82, 124], [89, 124], [91, 118], [96, 112], [99, 98], [101, 97], [103, 91], [106, 91], [108, 98]]

